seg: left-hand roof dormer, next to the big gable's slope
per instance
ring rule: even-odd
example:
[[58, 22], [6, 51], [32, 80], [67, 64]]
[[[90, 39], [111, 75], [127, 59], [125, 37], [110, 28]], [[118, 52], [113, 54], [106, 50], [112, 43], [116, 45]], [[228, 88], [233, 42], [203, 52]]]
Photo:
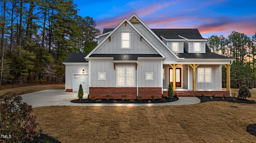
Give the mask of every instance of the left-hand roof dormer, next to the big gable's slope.
[[160, 35], [163, 42], [174, 52], [174, 53], [184, 53], [184, 38], [178, 35]]

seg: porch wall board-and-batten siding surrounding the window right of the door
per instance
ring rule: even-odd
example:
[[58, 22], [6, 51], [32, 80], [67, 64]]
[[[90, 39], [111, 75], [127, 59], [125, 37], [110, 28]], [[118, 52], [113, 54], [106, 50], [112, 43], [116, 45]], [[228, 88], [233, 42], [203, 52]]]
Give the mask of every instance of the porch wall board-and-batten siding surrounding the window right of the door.
[[[198, 83], [197, 82], [197, 69], [200, 67], [212, 68], [212, 82], [211, 83]], [[193, 69], [188, 66], [189, 71], [189, 89], [193, 89]], [[221, 66], [220, 65], [199, 65], [196, 68], [196, 90], [221, 90]]]

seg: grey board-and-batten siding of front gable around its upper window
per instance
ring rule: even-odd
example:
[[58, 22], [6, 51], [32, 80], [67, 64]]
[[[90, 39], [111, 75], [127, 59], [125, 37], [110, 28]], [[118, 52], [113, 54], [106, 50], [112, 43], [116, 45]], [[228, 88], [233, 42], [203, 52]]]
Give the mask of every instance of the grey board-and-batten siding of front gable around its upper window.
[[[131, 32], [131, 49], [121, 49], [121, 32]], [[133, 31], [128, 24], [124, 24], [111, 36], [111, 41], [107, 39], [95, 54], [158, 54], [155, 49], [149, 46], [140, 35]]]

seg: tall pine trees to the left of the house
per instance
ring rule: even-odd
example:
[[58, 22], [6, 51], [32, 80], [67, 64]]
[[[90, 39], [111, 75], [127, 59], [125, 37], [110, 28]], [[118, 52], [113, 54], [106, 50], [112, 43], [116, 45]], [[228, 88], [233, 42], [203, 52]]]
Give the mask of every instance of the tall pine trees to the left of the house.
[[72, 0], [1, 0], [0, 74], [5, 83], [65, 81], [70, 52], [90, 52], [100, 34]]

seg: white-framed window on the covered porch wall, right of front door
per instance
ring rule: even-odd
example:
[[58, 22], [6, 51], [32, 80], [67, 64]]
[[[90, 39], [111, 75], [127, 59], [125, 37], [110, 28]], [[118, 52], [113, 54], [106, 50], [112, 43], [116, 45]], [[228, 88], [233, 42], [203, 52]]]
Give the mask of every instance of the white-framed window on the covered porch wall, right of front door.
[[211, 82], [212, 72], [211, 67], [197, 68], [197, 82]]

